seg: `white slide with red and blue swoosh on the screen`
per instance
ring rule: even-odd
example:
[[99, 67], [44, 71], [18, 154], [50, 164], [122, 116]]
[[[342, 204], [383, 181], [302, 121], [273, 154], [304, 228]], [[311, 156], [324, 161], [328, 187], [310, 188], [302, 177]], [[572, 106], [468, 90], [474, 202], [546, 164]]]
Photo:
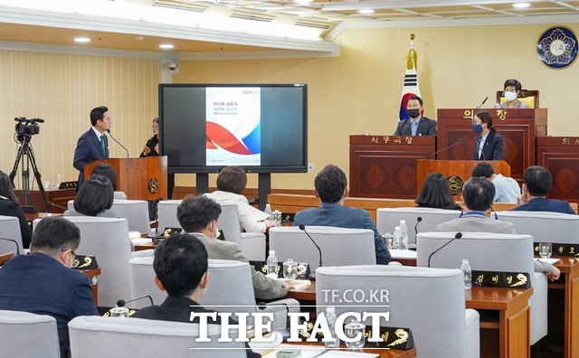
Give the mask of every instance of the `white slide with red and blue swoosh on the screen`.
[[206, 89], [206, 165], [261, 165], [261, 89]]

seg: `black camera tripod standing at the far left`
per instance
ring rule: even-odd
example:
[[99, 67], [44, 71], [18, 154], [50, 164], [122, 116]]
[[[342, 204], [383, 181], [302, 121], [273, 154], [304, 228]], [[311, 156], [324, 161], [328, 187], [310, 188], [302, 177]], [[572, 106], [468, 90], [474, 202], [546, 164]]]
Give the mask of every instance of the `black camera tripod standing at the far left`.
[[32, 166], [34, 178], [36, 179], [36, 184], [38, 184], [38, 189], [40, 190], [40, 193], [43, 196], [43, 203], [44, 205], [46, 205], [46, 212], [51, 212], [48, 206], [48, 201], [46, 200], [46, 194], [44, 193], [43, 182], [41, 180], [42, 175], [38, 172], [38, 166], [36, 166], [36, 159], [34, 159], [33, 147], [30, 145], [32, 137], [24, 136], [22, 139], [23, 140], [21, 141], [20, 148], [18, 149], [18, 154], [16, 154], [14, 167], [12, 168], [12, 172], [10, 172], [9, 175], [10, 182], [12, 182], [12, 186], [15, 187], [14, 177], [16, 176], [16, 172], [18, 171], [18, 165], [20, 164], [20, 161], [24, 155], [26, 159], [25, 165], [23, 165], [22, 169], [22, 193], [24, 195], [24, 205], [22, 205], [22, 210], [23, 212], [26, 213], [35, 212], [35, 208], [33, 206], [28, 205], [28, 197], [30, 196], [30, 167]]

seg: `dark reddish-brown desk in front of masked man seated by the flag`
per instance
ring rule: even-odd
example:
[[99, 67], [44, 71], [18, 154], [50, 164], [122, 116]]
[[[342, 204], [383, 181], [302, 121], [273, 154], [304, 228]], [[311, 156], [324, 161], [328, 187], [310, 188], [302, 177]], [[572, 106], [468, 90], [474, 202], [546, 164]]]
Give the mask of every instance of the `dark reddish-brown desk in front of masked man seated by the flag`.
[[415, 199], [416, 161], [436, 137], [350, 136], [350, 197]]

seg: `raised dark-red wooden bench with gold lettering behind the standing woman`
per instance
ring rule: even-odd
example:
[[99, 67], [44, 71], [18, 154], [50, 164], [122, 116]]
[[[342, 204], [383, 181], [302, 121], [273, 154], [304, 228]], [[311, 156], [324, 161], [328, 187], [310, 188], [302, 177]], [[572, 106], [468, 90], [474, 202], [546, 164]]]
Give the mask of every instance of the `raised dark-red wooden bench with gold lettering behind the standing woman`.
[[[505, 141], [505, 158], [511, 168], [511, 176], [517, 181], [523, 178], [523, 172], [530, 165], [535, 165], [536, 137], [546, 136], [547, 110], [535, 109], [488, 109], [493, 118], [493, 125]], [[449, 150], [438, 154], [438, 159], [470, 160], [473, 159], [475, 137], [472, 131], [472, 118], [478, 109], [451, 108], [439, 109], [438, 115], [438, 150], [453, 144]], [[500, 173], [505, 174], [505, 173]]]

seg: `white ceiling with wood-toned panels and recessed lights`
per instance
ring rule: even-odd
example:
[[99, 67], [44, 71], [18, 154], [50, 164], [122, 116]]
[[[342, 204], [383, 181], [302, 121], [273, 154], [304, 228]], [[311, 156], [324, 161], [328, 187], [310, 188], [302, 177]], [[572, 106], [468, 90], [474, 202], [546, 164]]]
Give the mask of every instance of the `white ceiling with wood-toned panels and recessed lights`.
[[[301, 0], [299, 0], [301, 1]], [[336, 55], [345, 29], [579, 22], [579, 1], [0, 0], [0, 48], [23, 44], [185, 58], [215, 52]], [[373, 9], [374, 14], [358, 14]], [[92, 39], [72, 42], [76, 36]], [[175, 48], [160, 50], [160, 43]]]

